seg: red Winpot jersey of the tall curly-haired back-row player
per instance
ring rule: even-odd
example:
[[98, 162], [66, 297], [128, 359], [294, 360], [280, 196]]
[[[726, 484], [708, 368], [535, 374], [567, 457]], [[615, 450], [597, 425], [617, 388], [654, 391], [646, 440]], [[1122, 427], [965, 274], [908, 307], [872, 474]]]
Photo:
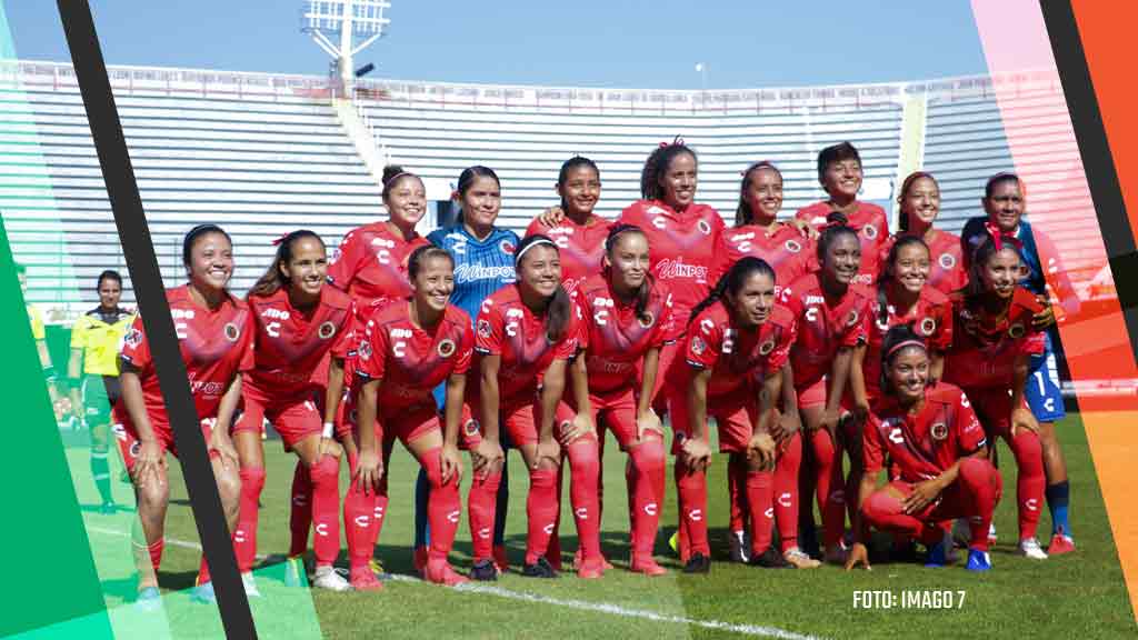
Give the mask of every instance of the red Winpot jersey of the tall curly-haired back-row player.
[[[692, 204], [676, 213], [660, 200], [640, 200], [620, 212], [620, 222], [644, 230], [652, 254], [652, 273], [668, 286], [676, 318], [686, 321], [692, 309], [707, 297], [715, 281], [709, 266], [724, 231], [719, 212]], [[682, 330], [683, 323], [676, 323]]]

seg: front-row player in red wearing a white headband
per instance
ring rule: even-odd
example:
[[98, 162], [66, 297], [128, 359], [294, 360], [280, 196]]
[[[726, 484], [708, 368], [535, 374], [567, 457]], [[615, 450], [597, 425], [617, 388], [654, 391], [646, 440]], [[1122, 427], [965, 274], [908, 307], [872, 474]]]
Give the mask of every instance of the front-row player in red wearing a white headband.
[[[501, 424], [529, 468], [523, 575], [556, 576], [545, 555], [560, 510], [556, 487], [563, 452], [572, 475], [570, 498], [582, 550], [577, 575], [600, 577], [604, 571], [596, 517], [600, 460], [587, 381], [575, 380], [579, 413], [574, 417], [568, 407], [560, 405], [567, 363], [577, 354], [579, 327], [576, 309], [561, 287], [556, 244], [547, 236], [522, 240], [517, 253], [517, 279], [514, 286], [488, 297], [478, 314], [475, 348], [481, 383], [470, 399], [471, 410], [481, 417], [481, 438], [497, 443]], [[485, 486], [471, 489], [476, 576], [481, 571], [479, 564], [485, 566], [488, 560], [484, 534], [488, 533], [487, 516], [493, 515], [494, 507], [487, 493]]]

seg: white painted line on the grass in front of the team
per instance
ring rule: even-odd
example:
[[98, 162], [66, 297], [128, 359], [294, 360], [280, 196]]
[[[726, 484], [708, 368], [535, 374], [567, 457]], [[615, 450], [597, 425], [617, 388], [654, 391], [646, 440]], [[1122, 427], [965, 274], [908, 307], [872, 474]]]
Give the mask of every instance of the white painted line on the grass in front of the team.
[[[115, 531], [109, 528], [102, 528], [98, 526], [88, 525], [88, 531], [94, 533], [102, 533], [107, 535], [118, 535], [126, 538], [130, 534], [122, 531]], [[189, 542], [185, 540], [178, 540], [174, 538], [167, 538], [166, 544], [171, 547], [182, 547], [184, 549], [193, 549], [195, 551], [200, 551], [201, 545], [197, 542]], [[265, 556], [258, 555], [257, 559], [263, 560]], [[396, 582], [422, 582], [418, 577], [412, 577], [410, 575], [396, 575], [389, 574], [390, 580]], [[487, 596], [497, 596], [498, 598], [505, 598], [508, 600], [519, 600], [522, 602], [537, 602], [542, 605], [552, 605], [554, 607], [564, 607], [567, 609], [577, 609], [582, 612], [595, 612], [601, 614], [609, 614], [620, 617], [640, 618], [648, 620], [652, 622], [673, 623], [673, 624], [684, 624], [688, 626], [700, 626], [703, 629], [712, 629], [716, 631], [728, 631], [732, 633], [739, 633], [742, 635], [753, 635], [756, 638], [777, 638], [780, 640], [817, 640], [816, 635], [803, 635], [801, 633], [794, 633], [793, 631], [786, 631], [778, 629], [776, 626], [760, 626], [753, 624], [734, 624], [728, 622], [719, 622], [715, 620], [699, 620], [686, 616], [674, 616], [668, 614], [660, 614], [657, 612], [651, 612], [648, 609], [632, 609], [628, 607], [620, 607], [618, 605], [607, 605], [603, 602], [588, 602], [586, 600], [568, 600], [562, 598], [551, 598], [549, 596], [539, 596], [537, 593], [527, 593], [525, 591], [513, 591], [510, 589], [503, 589], [501, 586], [489, 586], [484, 584], [467, 583], [460, 584], [454, 588], [455, 591], [463, 593], [485, 593]]]

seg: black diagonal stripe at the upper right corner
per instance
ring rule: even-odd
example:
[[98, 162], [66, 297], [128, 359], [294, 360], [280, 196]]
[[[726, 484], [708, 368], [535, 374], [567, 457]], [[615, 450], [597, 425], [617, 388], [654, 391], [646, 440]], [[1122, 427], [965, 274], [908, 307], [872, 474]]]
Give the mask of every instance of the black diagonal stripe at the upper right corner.
[[1047, 35], [1055, 54], [1055, 66], [1063, 83], [1067, 112], [1079, 142], [1082, 169], [1087, 174], [1087, 186], [1095, 203], [1098, 228], [1114, 273], [1114, 288], [1119, 293], [1119, 304], [1130, 334], [1130, 348], [1138, 361], [1138, 249], [1130, 231], [1127, 205], [1122, 199], [1119, 174], [1103, 126], [1103, 114], [1090, 81], [1090, 69], [1079, 38], [1079, 25], [1070, 0], [1040, 0]]

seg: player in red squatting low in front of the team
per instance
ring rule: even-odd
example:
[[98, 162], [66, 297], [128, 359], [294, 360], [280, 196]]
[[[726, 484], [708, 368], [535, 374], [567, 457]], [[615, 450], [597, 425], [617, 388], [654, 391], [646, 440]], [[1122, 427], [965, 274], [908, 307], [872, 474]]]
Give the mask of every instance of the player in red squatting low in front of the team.
[[[865, 425], [865, 475], [858, 483], [855, 542], [846, 569], [869, 568], [868, 526], [921, 540], [926, 563], [945, 564], [940, 523], [968, 518], [968, 571], [991, 568], [988, 525], [1000, 476], [987, 459], [984, 430], [958, 387], [931, 377], [924, 339], [907, 325], [889, 329], [882, 344], [882, 395]], [[885, 459], [899, 477], [877, 489]]]

